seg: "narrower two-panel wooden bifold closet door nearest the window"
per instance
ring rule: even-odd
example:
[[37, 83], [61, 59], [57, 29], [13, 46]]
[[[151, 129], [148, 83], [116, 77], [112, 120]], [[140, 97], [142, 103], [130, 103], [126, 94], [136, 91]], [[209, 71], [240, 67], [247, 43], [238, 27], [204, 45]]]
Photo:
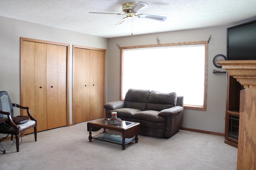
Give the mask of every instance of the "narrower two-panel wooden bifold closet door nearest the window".
[[73, 123], [104, 117], [106, 50], [73, 45]]

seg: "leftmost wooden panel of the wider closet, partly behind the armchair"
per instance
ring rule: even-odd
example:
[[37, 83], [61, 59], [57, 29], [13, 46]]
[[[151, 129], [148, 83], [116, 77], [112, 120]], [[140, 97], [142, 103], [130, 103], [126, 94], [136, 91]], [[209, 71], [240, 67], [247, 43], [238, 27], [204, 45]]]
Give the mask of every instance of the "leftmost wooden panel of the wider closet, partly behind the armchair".
[[[35, 112], [35, 70], [34, 70], [35, 43], [23, 41], [22, 44], [22, 101], [21, 105], [29, 107], [30, 113]], [[28, 115], [24, 109], [21, 109], [21, 115]]]

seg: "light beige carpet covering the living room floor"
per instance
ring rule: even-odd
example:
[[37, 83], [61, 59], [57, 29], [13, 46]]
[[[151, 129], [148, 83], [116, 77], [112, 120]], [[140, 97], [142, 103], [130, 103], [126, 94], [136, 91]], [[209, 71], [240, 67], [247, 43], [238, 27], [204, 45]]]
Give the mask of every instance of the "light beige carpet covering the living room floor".
[[[92, 132], [92, 136], [102, 132]], [[0, 169], [61, 170], [236, 170], [237, 148], [223, 136], [180, 130], [169, 139], [138, 135], [122, 150], [121, 145], [88, 140], [87, 123], [56, 128], [22, 137], [20, 152], [14, 145], [0, 152]], [[9, 148], [10, 140], [1, 142]], [[2, 148], [1, 148], [2, 150]]]

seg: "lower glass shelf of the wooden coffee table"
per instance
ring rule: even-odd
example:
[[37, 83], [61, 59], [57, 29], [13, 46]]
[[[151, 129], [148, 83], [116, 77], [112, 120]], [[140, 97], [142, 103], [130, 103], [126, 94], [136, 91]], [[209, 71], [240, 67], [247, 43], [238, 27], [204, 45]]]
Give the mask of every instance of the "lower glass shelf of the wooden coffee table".
[[[102, 141], [106, 141], [106, 142], [115, 143], [115, 144], [122, 144], [122, 142], [123, 142], [123, 138], [121, 135], [111, 134], [111, 133], [106, 133], [106, 132], [102, 133], [102, 134], [98, 134], [96, 136], [93, 136], [92, 138], [96, 139], [96, 140], [102, 140]], [[135, 140], [135, 138], [125, 138], [124, 144], [128, 144], [128, 143], [132, 142], [133, 140]]]

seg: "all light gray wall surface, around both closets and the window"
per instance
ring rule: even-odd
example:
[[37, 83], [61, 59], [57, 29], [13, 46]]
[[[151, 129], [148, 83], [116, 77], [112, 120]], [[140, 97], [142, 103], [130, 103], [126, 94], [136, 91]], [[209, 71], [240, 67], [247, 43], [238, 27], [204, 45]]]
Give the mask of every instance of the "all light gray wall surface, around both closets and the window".
[[[207, 110], [184, 110], [182, 127], [224, 133], [226, 73], [213, 74], [212, 59], [226, 55], [226, 28], [214, 27], [122, 38], [101, 38], [0, 16], [0, 91], [8, 91], [12, 103], [20, 103], [20, 37], [70, 44], [70, 123], [72, 123], [72, 45], [107, 49], [107, 102], [119, 100], [120, 46], [208, 40]], [[196, 66], [195, 66], [196, 67]], [[174, 80], [175, 81], [175, 80]], [[188, 85], [189, 88], [189, 85]], [[196, 89], [191, 89], [195, 91]], [[173, 91], [173, 90], [172, 90]]]

